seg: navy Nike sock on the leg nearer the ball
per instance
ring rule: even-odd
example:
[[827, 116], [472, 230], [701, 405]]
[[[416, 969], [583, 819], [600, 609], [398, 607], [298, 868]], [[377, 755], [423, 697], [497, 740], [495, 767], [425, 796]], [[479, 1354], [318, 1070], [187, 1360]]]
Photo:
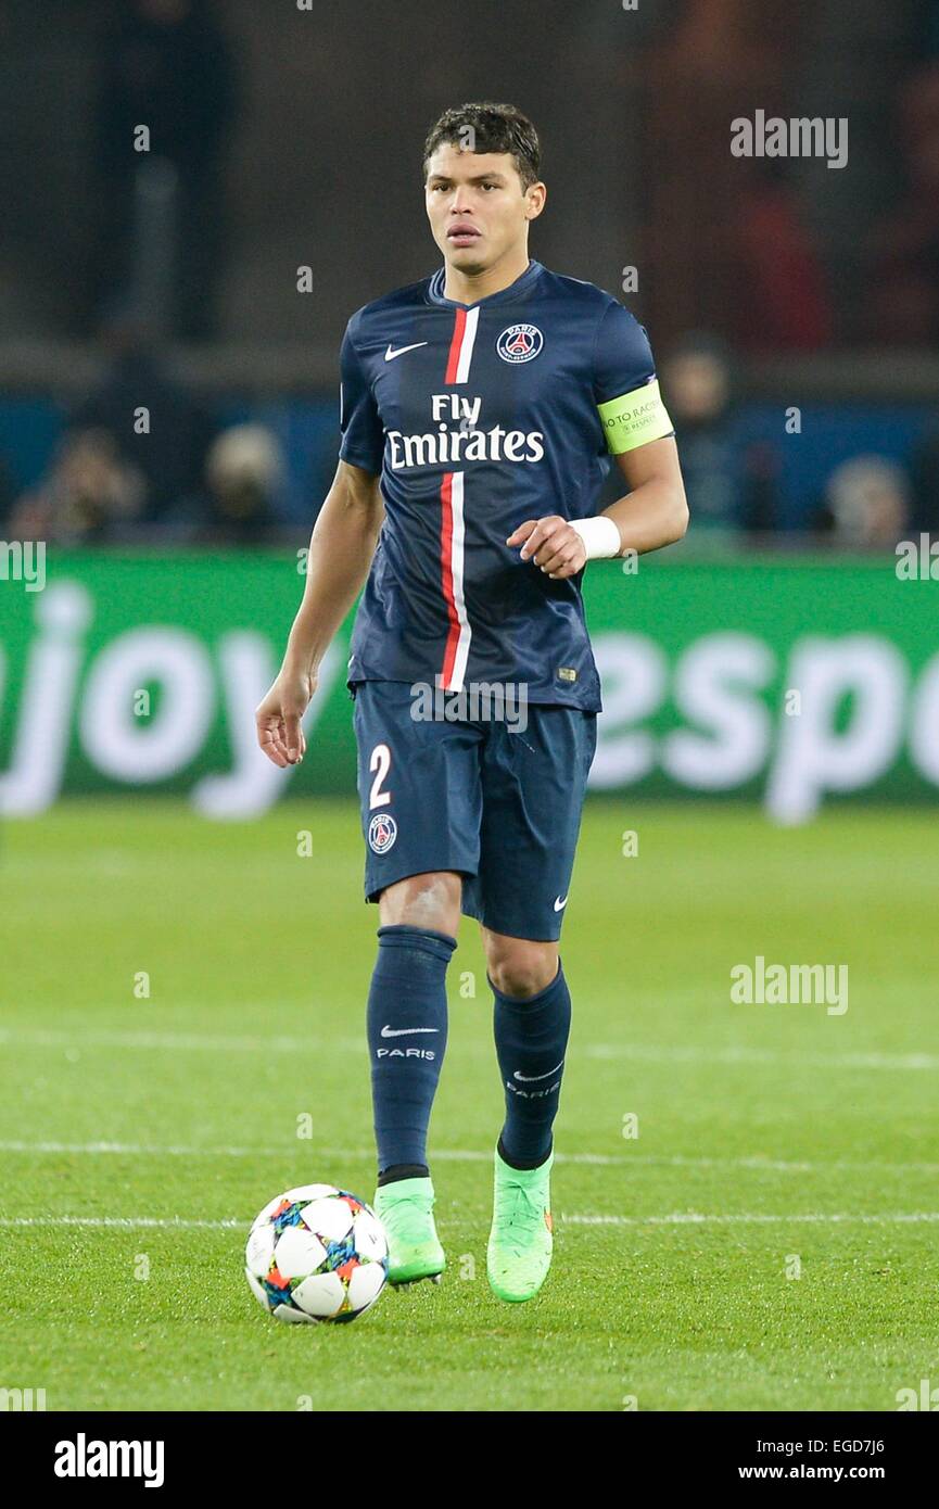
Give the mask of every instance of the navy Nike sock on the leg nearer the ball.
[[[406, 924], [379, 928], [368, 991], [374, 1141], [382, 1176], [427, 1168], [427, 1124], [447, 1049], [447, 964], [456, 939]], [[388, 1179], [383, 1183], [389, 1183]]]

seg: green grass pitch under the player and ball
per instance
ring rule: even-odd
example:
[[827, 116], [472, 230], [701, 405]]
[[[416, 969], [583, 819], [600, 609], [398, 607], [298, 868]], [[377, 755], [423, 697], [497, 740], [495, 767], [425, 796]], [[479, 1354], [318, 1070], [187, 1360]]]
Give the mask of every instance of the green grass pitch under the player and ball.
[[[501, 1091], [463, 919], [430, 1138], [444, 1283], [281, 1326], [243, 1278], [257, 1210], [311, 1180], [374, 1192], [361, 866], [341, 801], [248, 825], [74, 801], [0, 834], [0, 1387], [48, 1409], [889, 1411], [939, 1385], [933, 815], [589, 804], [545, 1289], [509, 1307], [486, 1283]], [[756, 955], [847, 964], [847, 1013], [732, 1005]]]

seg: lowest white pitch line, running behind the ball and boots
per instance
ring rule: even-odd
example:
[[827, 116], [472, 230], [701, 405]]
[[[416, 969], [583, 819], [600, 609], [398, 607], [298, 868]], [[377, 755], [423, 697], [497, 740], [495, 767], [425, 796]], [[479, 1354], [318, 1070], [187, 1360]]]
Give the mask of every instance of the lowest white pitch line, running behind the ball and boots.
[[[565, 1225], [613, 1225], [613, 1227], [646, 1227], [646, 1225], [803, 1225], [811, 1224], [830, 1224], [830, 1225], [909, 1225], [916, 1222], [936, 1222], [939, 1221], [939, 1210], [900, 1210], [886, 1215], [860, 1215], [854, 1212], [835, 1212], [826, 1215], [824, 1212], [808, 1212], [800, 1215], [767, 1215], [767, 1213], [749, 1213], [735, 1212], [729, 1215], [707, 1215], [696, 1210], [676, 1210], [670, 1215], [663, 1216], [601, 1216], [601, 1215], [568, 1215], [565, 1212], [559, 1216]], [[136, 1230], [213, 1230], [226, 1231], [232, 1228], [242, 1228], [245, 1231], [251, 1227], [251, 1218], [239, 1221], [237, 1218], [229, 1218], [225, 1221], [184, 1221], [181, 1216], [0, 1216], [0, 1227], [6, 1228], [26, 1228], [26, 1227], [89, 1227], [103, 1230], [118, 1230], [118, 1231], [136, 1231]]]

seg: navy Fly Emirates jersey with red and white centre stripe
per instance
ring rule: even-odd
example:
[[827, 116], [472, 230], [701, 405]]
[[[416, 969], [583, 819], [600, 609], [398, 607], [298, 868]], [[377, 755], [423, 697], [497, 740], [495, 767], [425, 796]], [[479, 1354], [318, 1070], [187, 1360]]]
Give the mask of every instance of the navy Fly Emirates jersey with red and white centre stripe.
[[645, 329], [536, 261], [474, 305], [439, 269], [352, 317], [341, 377], [340, 456], [385, 499], [349, 682], [512, 682], [599, 712], [583, 572], [551, 581], [506, 539], [589, 518], [610, 454], [673, 433]]

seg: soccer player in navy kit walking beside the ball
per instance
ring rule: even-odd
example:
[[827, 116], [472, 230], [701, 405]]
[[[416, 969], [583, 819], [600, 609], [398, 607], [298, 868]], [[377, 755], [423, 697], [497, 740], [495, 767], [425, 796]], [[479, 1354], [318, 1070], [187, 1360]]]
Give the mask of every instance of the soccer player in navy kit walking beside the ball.
[[[519, 110], [465, 104], [432, 127], [444, 263], [347, 324], [340, 463], [257, 711], [261, 748], [297, 764], [317, 667], [365, 582], [347, 685], [380, 919], [367, 1035], [388, 1277], [439, 1281], [445, 1263], [426, 1142], [462, 910], [495, 1000], [506, 1118], [486, 1269], [506, 1301], [536, 1295], [551, 1263], [571, 1022], [559, 937], [601, 711], [581, 578], [687, 527], [643, 327], [528, 257], [545, 195]], [[596, 515], [610, 457], [627, 490]]]

